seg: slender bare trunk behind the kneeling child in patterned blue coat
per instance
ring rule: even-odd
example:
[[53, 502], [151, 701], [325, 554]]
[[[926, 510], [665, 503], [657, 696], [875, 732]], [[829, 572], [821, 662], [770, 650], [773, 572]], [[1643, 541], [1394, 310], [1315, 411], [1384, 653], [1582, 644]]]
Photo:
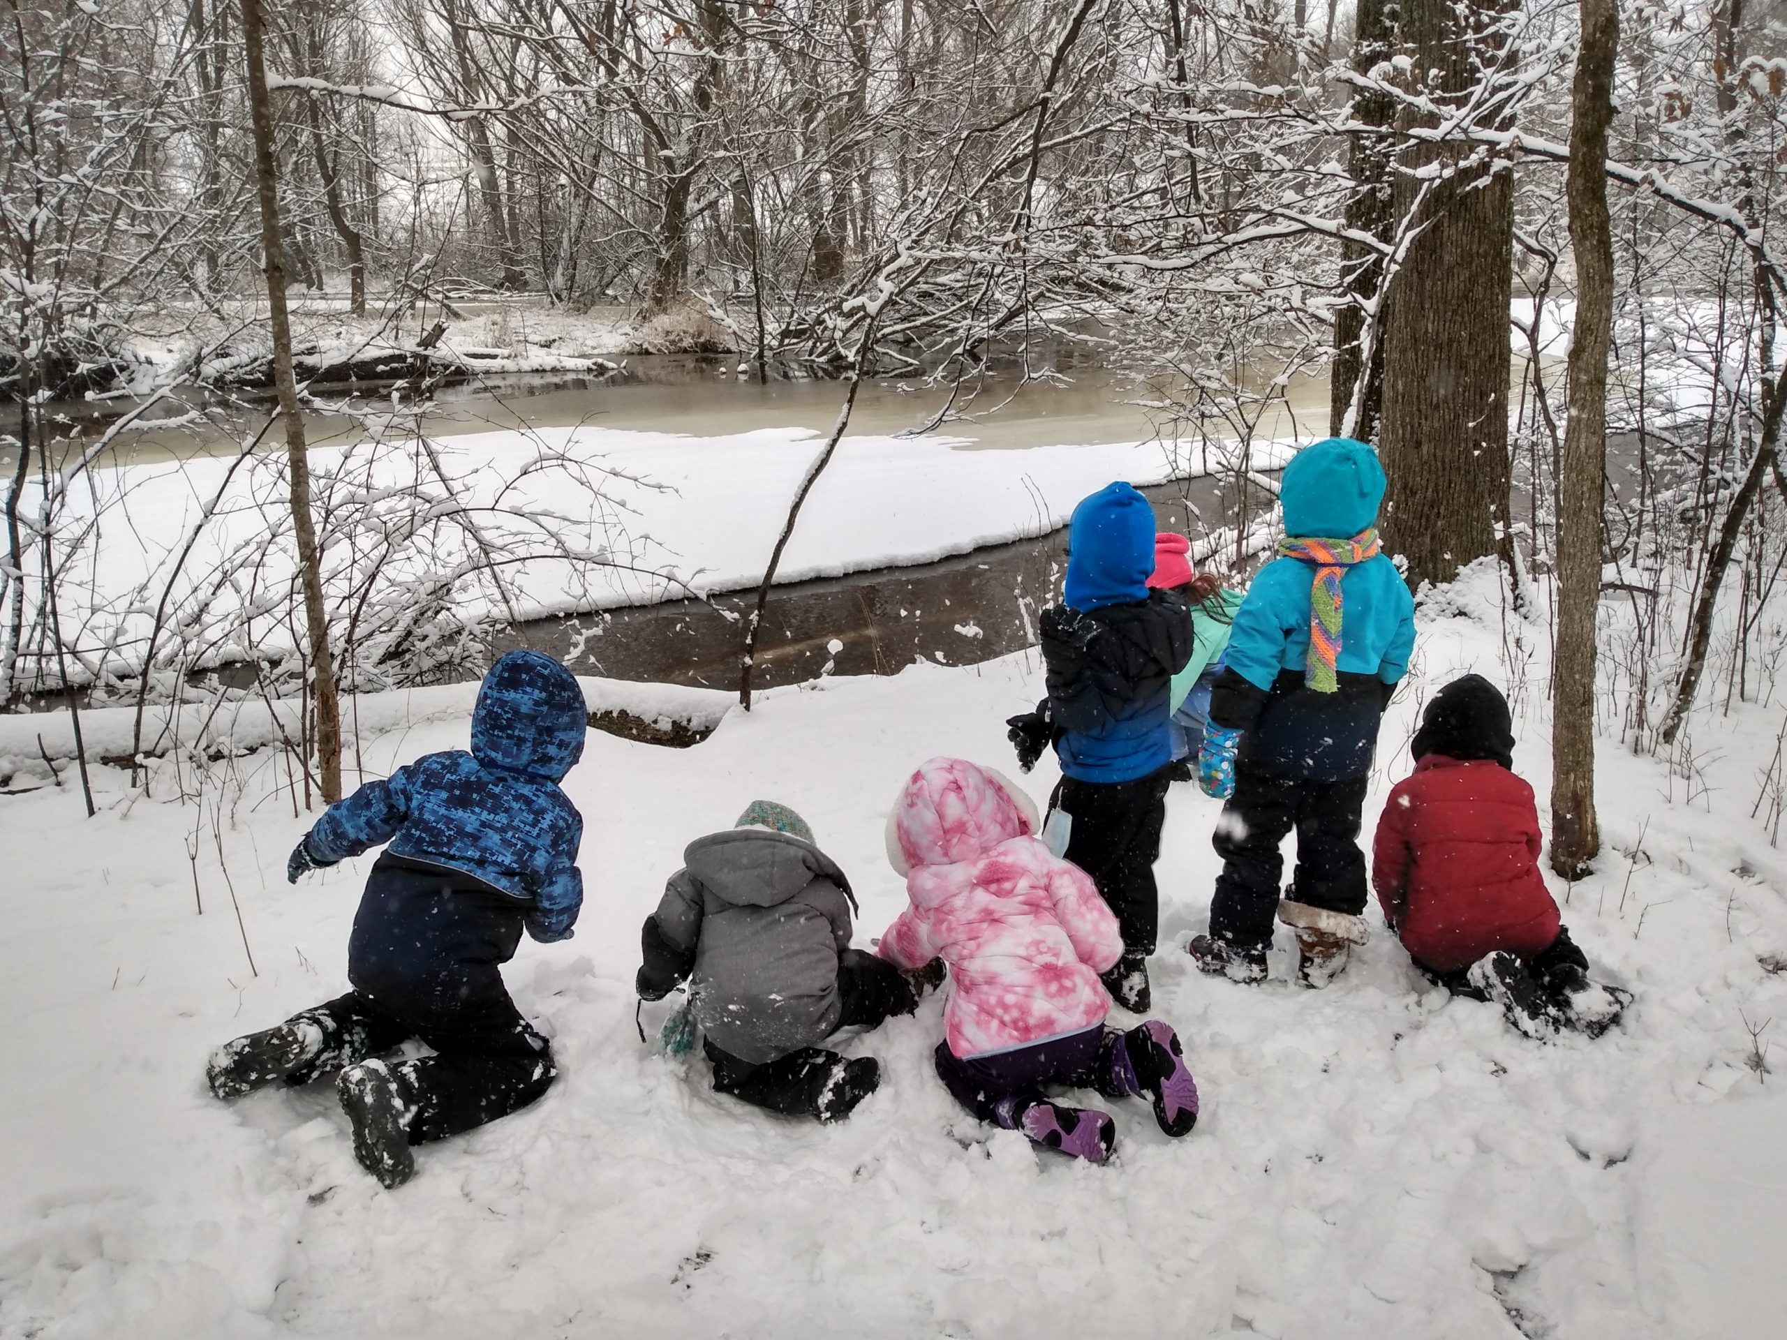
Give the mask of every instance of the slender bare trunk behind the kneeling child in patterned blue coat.
[[[286, 313], [286, 257], [279, 236], [279, 177], [273, 163], [273, 107], [266, 93], [261, 0], [241, 0], [241, 32], [248, 64], [248, 118], [254, 127], [256, 186], [261, 195], [261, 247], [266, 252], [266, 306], [273, 332], [273, 386], [286, 425], [291, 477], [291, 532], [298, 545], [298, 581], [309, 634], [311, 702], [316, 713], [316, 763], [323, 800], [341, 799], [341, 706], [336, 699], [334, 657], [329, 652], [329, 615], [323, 607], [322, 550], [311, 516], [311, 466], [304, 441], [304, 411], [291, 373], [291, 320]], [[147, 668], [145, 668], [147, 674]]]

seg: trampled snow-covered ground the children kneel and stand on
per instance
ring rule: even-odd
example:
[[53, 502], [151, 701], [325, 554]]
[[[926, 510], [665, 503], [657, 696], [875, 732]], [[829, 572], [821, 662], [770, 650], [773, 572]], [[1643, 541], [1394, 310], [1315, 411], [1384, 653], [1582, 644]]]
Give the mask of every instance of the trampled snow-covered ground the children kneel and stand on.
[[[1508, 684], [1496, 606], [1467, 579], [1422, 615], [1367, 831], [1424, 693], [1464, 670]], [[1515, 663], [1542, 659], [1542, 629], [1515, 634]], [[1119, 1154], [1094, 1168], [981, 1127], [931, 1070], [936, 999], [847, 1043], [885, 1081], [829, 1129], [717, 1097], [704, 1061], [640, 1043], [638, 925], [688, 840], [752, 797], [795, 806], [851, 874], [867, 943], [902, 902], [881, 845], [897, 784], [931, 754], [1008, 765], [1003, 718], [1036, 688], [1033, 657], [924, 665], [776, 690], [688, 750], [591, 734], [568, 779], [586, 818], [577, 938], [525, 943], [508, 972], [561, 1079], [424, 1149], [399, 1192], [354, 1165], [331, 1090], [234, 1106], [204, 1090], [214, 1043], [345, 988], [368, 861], [286, 886], [306, 822], [272, 754], [227, 770], [222, 806], [216, 790], [132, 800], [111, 770], [93, 820], [71, 790], [0, 799], [0, 1333], [1780, 1333], [1787, 1081], [1746, 1063], [1744, 1026], [1787, 1017], [1787, 974], [1762, 963], [1787, 952], [1787, 859], [1749, 818], [1780, 704], [1698, 720], [1692, 790], [1603, 747], [1607, 852], [1556, 888], [1596, 967], [1637, 993], [1599, 1042], [1535, 1045], [1424, 986], [1376, 911], [1324, 992], [1294, 986], [1283, 956], [1262, 988], [1197, 976], [1178, 943], [1204, 922], [1215, 802], [1178, 786], [1153, 967], [1204, 1097], [1187, 1140], [1124, 1106]], [[1515, 765], [1544, 797], [1542, 668], [1512, 697]], [[368, 772], [465, 743], [463, 716], [425, 706], [413, 727], [393, 709]], [[159, 766], [166, 795], [179, 763]]]

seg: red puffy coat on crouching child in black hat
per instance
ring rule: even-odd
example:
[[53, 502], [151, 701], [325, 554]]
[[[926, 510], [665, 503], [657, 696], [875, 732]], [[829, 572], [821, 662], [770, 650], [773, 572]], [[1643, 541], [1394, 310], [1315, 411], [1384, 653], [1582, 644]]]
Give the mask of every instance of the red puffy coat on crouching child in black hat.
[[1498, 949], [1531, 958], [1558, 936], [1540, 843], [1531, 786], [1489, 759], [1428, 754], [1383, 806], [1371, 883], [1403, 947], [1435, 972]]

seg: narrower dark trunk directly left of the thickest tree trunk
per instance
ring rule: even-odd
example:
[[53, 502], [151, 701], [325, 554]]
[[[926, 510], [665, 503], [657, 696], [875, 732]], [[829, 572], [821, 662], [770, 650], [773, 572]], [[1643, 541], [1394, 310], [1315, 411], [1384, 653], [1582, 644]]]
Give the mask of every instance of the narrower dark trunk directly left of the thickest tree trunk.
[[[1358, 2], [1353, 68], [1360, 73], [1390, 59], [1390, 23], [1383, 11], [1385, 0]], [[1396, 104], [1388, 96], [1367, 91], [1353, 95], [1355, 121], [1388, 130], [1394, 116]], [[1347, 227], [1388, 243], [1396, 230], [1396, 214], [1390, 207], [1388, 134], [1355, 134], [1347, 168], [1353, 175], [1353, 198], [1346, 205]], [[1347, 434], [1371, 441], [1378, 432], [1378, 415], [1383, 406], [1383, 339], [1378, 336], [1381, 323], [1365, 320], [1365, 304], [1378, 297], [1381, 284], [1381, 254], [1362, 243], [1340, 243], [1340, 286], [1351, 302], [1335, 313], [1335, 361], [1328, 384], [1328, 431], [1335, 436]], [[1365, 379], [1363, 389], [1358, 386], [1360, 377]]]

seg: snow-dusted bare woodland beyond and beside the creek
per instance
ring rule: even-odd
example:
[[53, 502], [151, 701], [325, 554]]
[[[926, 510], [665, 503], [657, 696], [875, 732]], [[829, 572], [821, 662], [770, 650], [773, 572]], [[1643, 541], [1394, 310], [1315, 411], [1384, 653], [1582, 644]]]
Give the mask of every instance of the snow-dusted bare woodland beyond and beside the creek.
[[[1145, 377], [1174, 436], [1242, 443], [1326, 373], [1328, 427], [1383, 454], [1414, 584], [1496, 556], [1515, 602], [1555, 600], [1555, 861], [1576, 868], [1596, 711], [1680, 750], [1708, 681], [1744, 697], [1782, 657], [1753, 641], [1787, 498], [1783, 20], [1746, 0], [5, 0], [0, 697], [25, 691], [32, 627], [38, 688], [107, 674], [63, 657], [70, 466], [52, 486], [41, 406], [227, 382], [288, 282], [356, 331], [475, 291], [620, 304], [654, 347], [963, 400], [990, 359], [1053, 377], [1076, 350]], [[145, 336], [182, 352], [145, 361]], [[302, 600], [307, 683], [320, 665], [332, 686], [322, 582]]]

